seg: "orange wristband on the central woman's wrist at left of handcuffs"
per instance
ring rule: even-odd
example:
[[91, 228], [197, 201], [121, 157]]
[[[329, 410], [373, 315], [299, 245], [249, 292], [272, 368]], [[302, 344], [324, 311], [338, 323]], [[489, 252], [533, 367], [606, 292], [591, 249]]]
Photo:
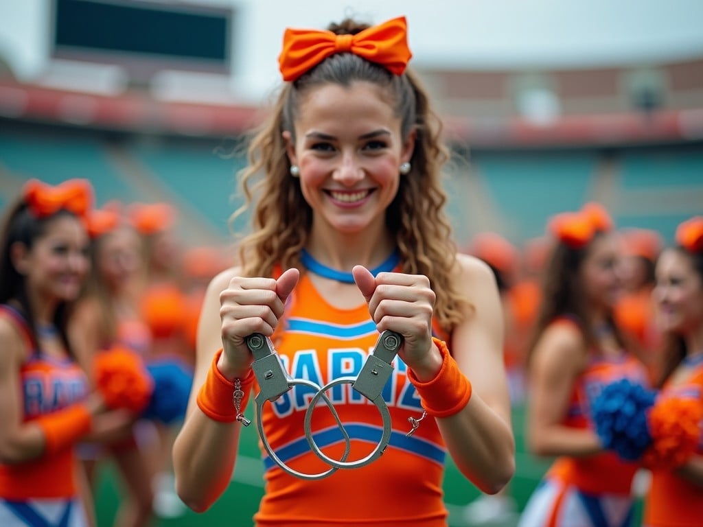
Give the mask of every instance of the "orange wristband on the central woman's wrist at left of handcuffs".
[[254, 384], [254, 372], [250, 370], [244, 379], [229, 381], [217, 369], [217, 361], [222, 354], [220, 348], [212, 358], [212, 366], [207, 371], [205, 384], [198, 391], [198, 408], [202, 413], [214, 421], [231, 423], [235, 421], [246, 424], [243, 410]]

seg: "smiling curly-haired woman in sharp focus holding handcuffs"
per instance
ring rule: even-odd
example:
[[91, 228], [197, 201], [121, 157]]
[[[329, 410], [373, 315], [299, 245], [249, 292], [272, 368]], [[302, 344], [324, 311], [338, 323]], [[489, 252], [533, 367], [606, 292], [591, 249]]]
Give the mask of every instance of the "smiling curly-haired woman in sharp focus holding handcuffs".
[[[197, 389], [174, 445], [176, 488], [200, 511], [230, 481], [257, 372], [245, 342], [259, 333], [285, 374], [307, 384], [261, 413], [268, 444], [257, 526], [446, 526], [447, 453], [488, 493], [515, 467], [496, 282], [451, 240], [440, 184], [446, 149], [407, 68], [405, 18], [289, 29], [283, 40], [286, 84], [242, 173], [245, 195], [258, 197], [247, 202], [254, 231], [240, 244], [243, 265], [211, 282], [200, 317]], [[386, 330], [402, 337], [391, 380], [377, 386], [392, 430], [362, 404], [361, 389], [340, 386], [360, 375]], [[335, 412], [308, 419], [321, 396], [315, 385], [330, 386], [325, 402]], [[379, 437], [389, 442], [375, 459]]]

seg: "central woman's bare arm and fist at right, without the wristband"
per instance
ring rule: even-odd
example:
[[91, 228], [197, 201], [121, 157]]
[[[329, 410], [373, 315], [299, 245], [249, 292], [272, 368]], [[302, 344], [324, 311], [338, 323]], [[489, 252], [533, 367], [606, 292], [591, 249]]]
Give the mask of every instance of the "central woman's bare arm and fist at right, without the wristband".
[[[437, 378], [443, 358], [432, 342], [434, 292], [421, 275], [354, 268], [356, 285], [378, 330], [404, 336], [399, 356], [419, 382]], [[503, 367], [503, 314], [494, 275], [479, 260], [461, 256], [455, 279], [472, 306], [454, 328], [449, 349], [472, 383], [464, 408], [437, 425], [458, 469], [486, 493], [496, 493], [515, 471], [515, 440]], [[440, 387], [441, 389], [441, 387]]]

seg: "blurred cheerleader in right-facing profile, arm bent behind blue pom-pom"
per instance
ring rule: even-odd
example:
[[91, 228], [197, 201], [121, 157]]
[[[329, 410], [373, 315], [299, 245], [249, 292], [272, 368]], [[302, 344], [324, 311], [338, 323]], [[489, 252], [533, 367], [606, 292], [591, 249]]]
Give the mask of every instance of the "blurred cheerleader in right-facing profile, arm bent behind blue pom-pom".
[[638, 465], [605, 451], [591, 422], [591, 401], [603, 386], [622, 378], [647, 384], [613, 322], [619, 243], [595, 203], [555, 216], [549, 228], [556, 245], [529, 352], [528, 439], [537, 455], [558, 458], [520, 526], [626, 526]]

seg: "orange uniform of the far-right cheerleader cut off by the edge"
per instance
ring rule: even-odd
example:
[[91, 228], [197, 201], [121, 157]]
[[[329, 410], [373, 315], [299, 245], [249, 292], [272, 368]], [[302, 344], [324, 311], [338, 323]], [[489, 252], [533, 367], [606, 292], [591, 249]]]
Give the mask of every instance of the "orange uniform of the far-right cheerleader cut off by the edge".
[[[703, 402], [703, 363], [692, 368], [683, 382], [664, 385], [662, 396], [695, 398]], [[697, 455], [703, 455], [703, 428]], [[703, 488], [675, 471], [655, 469], [645, 500], [647, 527], [697, 527], [703, 521]]]

